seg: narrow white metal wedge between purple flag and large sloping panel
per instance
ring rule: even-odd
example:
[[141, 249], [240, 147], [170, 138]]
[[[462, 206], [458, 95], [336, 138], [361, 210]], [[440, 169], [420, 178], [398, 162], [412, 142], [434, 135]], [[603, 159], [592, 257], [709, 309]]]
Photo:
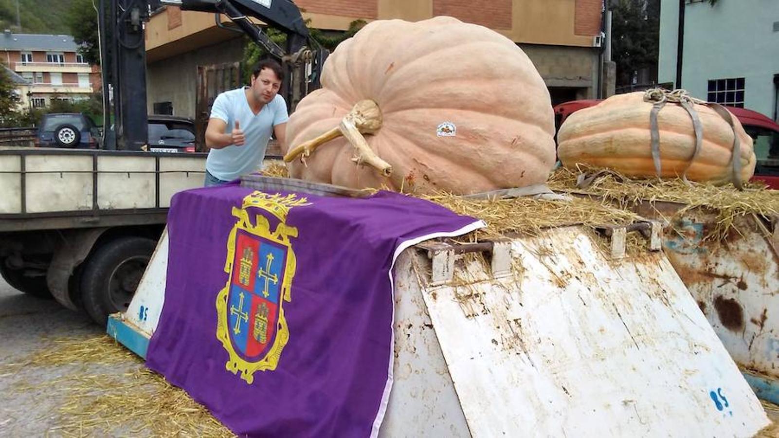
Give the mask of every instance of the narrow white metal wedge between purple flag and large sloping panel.
[[414, 270], [416, 250], [395, 263], [394, 382], [379, 436], [470, 436]]

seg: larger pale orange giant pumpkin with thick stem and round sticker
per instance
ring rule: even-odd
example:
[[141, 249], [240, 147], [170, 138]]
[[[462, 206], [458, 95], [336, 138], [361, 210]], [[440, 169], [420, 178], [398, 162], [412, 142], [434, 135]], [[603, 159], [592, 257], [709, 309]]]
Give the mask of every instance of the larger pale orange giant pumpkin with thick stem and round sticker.
[[352, 188], [477, 193], [544, 182], [544, 81], [508, 38], [451, 17], [369, 23], [287, 124], [290, 174]]

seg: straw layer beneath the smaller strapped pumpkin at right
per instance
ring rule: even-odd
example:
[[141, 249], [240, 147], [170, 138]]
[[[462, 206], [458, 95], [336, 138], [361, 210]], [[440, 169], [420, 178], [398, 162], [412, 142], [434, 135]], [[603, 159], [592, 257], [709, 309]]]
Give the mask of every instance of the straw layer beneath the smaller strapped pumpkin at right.
[[[591, 185], [583, 189], [576, 187], [580, 175], [594, 175], [598, 172], [600, 175]], [[696, 208], [713, 210], [717, 214], [717, 226], [708, 238], [727, 237], [740, 217], [772, 217], [779, 214], [779, 191], [767, 189], [762, 184], [747, 183], [743, 190], [738, 190], [731, 184], [686, 184], [679, 178], [664, 181], [637, 180], [616, 171], [580, 165], [576, 170], [559, 168], [549, 178], [548, 185], [559, 192], [597, 196], [622, 209], [629, 209], [642, 202], [654, 204], [664, 201], [686, 205], [676, 216]]]

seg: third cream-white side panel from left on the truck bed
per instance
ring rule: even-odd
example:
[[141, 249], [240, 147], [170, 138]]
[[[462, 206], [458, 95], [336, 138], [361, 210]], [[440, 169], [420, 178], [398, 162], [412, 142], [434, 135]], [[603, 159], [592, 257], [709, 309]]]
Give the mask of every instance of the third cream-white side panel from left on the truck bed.
[[[103, 210], [154, 208], [154, 157], [97, 156], [97, 206]], [[118, 172], [118, 173], [113, 173]]]

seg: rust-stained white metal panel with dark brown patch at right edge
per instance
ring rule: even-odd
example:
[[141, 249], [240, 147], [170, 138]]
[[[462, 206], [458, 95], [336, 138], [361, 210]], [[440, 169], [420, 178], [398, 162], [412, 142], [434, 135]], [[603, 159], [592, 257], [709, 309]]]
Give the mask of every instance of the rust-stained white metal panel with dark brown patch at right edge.
[[665, 253], [738, 364], [779, 378], [779, 256], [767, 226], [736, 222], [724, 242], [705, 239], [717, 218], [700, 210], [666, 231]]

